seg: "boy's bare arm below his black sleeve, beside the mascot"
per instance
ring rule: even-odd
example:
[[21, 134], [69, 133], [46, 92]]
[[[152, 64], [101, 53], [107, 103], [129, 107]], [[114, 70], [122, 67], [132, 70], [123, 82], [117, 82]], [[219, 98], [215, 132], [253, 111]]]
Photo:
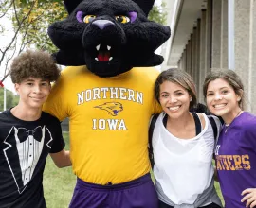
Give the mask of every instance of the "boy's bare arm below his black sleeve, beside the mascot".
[[72, 165], [69, 151], [63, 149], [62, 151], [57, 153], [50, 153], [50, 156], [54, 164], [59, 168]]

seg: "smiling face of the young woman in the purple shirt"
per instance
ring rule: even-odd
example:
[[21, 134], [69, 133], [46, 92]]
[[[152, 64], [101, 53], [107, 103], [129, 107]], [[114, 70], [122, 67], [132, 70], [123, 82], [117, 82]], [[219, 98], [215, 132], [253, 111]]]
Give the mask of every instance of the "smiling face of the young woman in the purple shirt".
[[235, 93], [224, 78], [210, 81], [206, 95], [207, 106], [211, 113], [221, 116], [225, 123], [229, 124], [241, 111], [238, 103], [240, 100], [241, 96]]

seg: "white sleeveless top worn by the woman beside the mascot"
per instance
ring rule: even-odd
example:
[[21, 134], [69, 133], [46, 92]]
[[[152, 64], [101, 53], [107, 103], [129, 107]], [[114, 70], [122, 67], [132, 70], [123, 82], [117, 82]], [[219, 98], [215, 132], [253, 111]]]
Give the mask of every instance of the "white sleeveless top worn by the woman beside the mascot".
[[177, 205], [193, 204], [209, 187], [213, 176], [214, 136], [208, 117], [202, 114], [205, 128], [191, 139], [179, 139], [166, 130], [162, 122], [165, 113], [160, 113], [155, 123], [155, 180]]

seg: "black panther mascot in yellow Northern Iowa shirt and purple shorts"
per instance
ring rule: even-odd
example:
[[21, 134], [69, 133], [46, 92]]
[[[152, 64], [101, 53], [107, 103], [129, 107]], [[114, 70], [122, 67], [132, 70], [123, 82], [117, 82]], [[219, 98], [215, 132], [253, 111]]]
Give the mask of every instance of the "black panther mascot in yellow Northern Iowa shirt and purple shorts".
[[70, 119], [77, 184], [71, 208], [156, 208], [148, 124], [170, 28], [147, 19], [154, 0], [66, 0], [68, 17], [48, 28], [66, 65], [45, 111]]

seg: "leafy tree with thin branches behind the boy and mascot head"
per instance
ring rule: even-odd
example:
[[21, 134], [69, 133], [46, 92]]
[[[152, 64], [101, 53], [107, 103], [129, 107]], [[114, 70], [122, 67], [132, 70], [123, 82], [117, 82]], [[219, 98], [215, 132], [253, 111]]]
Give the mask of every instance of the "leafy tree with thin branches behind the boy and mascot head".
[[[149, 19], [164, 24], [164, 7], [164, 4], [154, 6]], [[56, 52], [57, 48], [47, 36], [47, 27], [66, 16], [62, 0], [0, 0], [0, 38], [6, 32], [4, 22], [9, 20], [13, 25], [9, 42], [0, 48], [0, 81], [9, 75], [9, 61], [26, 47], [35, 45], [38, 49]]]

